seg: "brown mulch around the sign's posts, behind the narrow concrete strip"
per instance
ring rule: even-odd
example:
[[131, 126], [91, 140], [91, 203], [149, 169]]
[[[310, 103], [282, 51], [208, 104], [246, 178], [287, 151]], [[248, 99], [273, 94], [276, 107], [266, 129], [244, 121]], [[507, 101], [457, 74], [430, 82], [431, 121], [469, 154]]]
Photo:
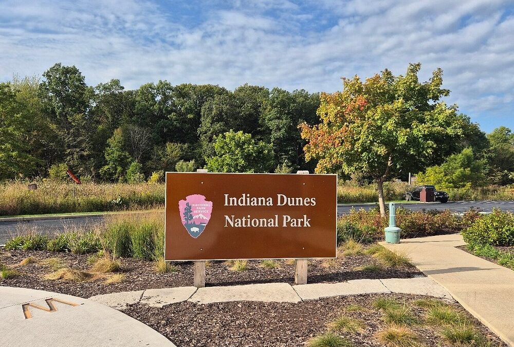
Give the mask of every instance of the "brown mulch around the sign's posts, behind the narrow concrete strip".
[[[103, 280], [88, 282], [67, 282], [43, 280], [43, 275], [52, 269], [38, 263], [18, 266], [26, 257], [35, 257], [38, 260], [45, 258], [61, 258], [67, 267], [77, 270], [88, 270], [91, 265], [87, 263], [88, 255], [75, 255], [64, 252], [49, 251], [5, 251], [0, 249], [0, 263], [9, 267], [15, 267], [21, 272], [21, 276], [0, 279], [0, 285], [11, 287], [24, 287], [54, 291], [57, 293], [74, 295], [82, 298], [115, 293], [119, 291], [141, 290], [149, 288], [166, 288], [190, 286], [193, 283], [193, 263], [175, 263], [177, 272], [158, 273], [154, 264], [132, 258], [120, 259], [121, 269], [126, 280], [122, 283], [106, 284]], [[310, 260], [308, 265], [309, 283], [335, 283], [356, 279], [386, 279], [386, 278], [411, 278], [423, 276], [416, 268], [386, 268], [378, 272], [363, 271], [357, 269], [368, 265], [375, 259], [370, 255], [355, 255], [337, 259], [335, 264], [326, 266], [323, 260]], [[249, 269], [234, 272], [223, 262], [211, 262], [206, 269], [206, 285], [240, 285], [250, 283], [271, 283], [295, 281], [295, 266], [286, 261], [279, 261], [280, 267], [268, 269], [260, 267], [259, 261], [249, 261]], [[325, 265], [325, 266], [324, 266]]]

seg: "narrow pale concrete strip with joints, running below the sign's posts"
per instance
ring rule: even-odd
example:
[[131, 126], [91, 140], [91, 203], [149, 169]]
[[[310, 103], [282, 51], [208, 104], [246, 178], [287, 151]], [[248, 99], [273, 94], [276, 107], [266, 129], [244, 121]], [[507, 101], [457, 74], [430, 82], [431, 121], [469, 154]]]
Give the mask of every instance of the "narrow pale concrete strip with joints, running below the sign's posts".
[[205, 288], [176, 287], [122, 291], [89, 298], [117, 309], [145, 304], [153, 307], [190, 301], [197, 304], [229, 301], [292, 302], [321, 298], [380, 293], [427, 295], [453, 300], [443, 287], [426, 277], [384, 280], [351, 280], [340, 283], [311, 283], [291, 286], [288, 283], [260, 283]]

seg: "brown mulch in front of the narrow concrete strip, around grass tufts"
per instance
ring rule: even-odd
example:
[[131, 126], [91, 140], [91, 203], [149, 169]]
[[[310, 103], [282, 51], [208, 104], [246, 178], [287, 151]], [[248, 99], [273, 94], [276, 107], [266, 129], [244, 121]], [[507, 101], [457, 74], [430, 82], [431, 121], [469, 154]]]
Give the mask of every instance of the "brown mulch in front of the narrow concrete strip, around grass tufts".
[[[340, 315], [364, 321], [362, 332], [338, 333], [353, 342], [354, 346], [383, 346], [375, 334], [386, 324], [382, 312], [373, 308], [376, 298], [389, 298], [412, 304], [421, 296], [401, 294], [363, 295], [326, 298], [301, 303], [226, 302], [199, 305], [181, 302], [162, 308], [136, 304], [123, 312], [151, 326], [169, 338], [177, 347], [193, 346], [259, 346], [291, 347], [305, 343], [327, 331], [327, 323]], [[425, 297], [426, 298], [426, 297]], [[448, 302], [450, 303], [450, 302]], [[454, 303], [475, 323], [476, 329], [487, 338], [490, 347], [501, 346], [501, 342], [479, 321]], [[349, 305], [361, 306], [358, 311], [348, 310]], [[423, 318], [425, 310], [413, 307], [417, 317]], [[439, 328], [418, 325], [412, 327], [424, 346], [450, 346], [439, 335]]]

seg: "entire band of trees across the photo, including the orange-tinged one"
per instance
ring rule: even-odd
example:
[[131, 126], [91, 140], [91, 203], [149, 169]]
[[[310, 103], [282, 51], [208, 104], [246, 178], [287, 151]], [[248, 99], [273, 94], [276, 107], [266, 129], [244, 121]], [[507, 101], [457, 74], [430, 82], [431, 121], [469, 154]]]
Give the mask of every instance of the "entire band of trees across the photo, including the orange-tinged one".
[[[163, 171], [338, 173], [375, 181], [418, 174], [439, 188], [514, 182], [514, 134], [486, 134], [443, 98], [443, 71], [418, 81], [384, 70], [342, 92], [242, 85], [88, 86], [75, 66], [0, 83], [0, 180], [162, 179]], [[307, 159], [307, 160], [306, 160]]]

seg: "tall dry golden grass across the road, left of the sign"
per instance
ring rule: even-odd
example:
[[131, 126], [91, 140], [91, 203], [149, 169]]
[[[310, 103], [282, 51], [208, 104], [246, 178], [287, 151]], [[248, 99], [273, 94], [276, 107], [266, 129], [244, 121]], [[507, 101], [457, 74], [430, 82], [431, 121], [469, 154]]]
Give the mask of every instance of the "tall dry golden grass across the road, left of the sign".
[[36, 190], [20, 181], [0, 184], [0, 216], [139, 210], [164, 204], [163, 184], [75, 185], [50, 180], [37, 184]]

